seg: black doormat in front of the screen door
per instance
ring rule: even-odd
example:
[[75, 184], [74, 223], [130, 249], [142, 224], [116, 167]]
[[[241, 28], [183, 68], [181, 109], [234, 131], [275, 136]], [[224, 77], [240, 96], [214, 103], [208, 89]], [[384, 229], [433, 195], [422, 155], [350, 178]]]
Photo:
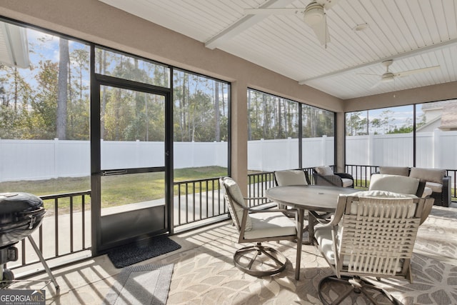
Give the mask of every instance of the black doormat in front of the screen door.
[[176, 241], [161, 235], [147, 241], [113, 248], [109, 250], [108, 257], [116, 268], [122, 268], [180, 248], [181, 246]]

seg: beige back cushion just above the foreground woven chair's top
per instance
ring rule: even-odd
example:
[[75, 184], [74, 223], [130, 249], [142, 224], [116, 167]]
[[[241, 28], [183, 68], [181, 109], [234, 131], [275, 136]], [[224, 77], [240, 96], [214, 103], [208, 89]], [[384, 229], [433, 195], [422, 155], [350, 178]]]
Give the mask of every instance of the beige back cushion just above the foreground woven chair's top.
[[392, 191], [399, 194], [416, 194], [419, 179], [408, 176], [373, 174], [370, 178], [369, 190]]

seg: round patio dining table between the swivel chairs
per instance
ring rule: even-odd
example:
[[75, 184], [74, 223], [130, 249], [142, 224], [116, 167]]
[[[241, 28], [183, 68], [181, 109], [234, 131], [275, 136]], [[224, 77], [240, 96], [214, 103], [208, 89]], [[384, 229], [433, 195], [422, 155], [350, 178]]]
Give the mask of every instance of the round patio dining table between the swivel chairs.
[[309, 242], [313, 242], [314, 216], [313, 211], [334, 212], [338, 204], [339, 194], [352, 194], [357, 189], [338, 186], [276, 186], [266, 190], [266, 197], [279, 204], [291, 206], [298, 211], [297, 215], [297, 255], [295, 279], [300, 278], [301, 246], [298, 241], [303, 240], [303, 221], [305, 211], [308, 211], [308, 236]]

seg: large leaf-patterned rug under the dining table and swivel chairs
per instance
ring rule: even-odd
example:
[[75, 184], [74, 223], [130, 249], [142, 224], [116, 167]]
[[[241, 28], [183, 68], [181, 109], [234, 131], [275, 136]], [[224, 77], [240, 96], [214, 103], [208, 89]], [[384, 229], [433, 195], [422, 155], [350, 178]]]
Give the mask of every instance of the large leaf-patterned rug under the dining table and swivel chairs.
[[[383, 279], [376, 285], [406, 305], [457, 304], [456, 211], [434, 207], [422, 224], [412, 259], [413, 284]], [[303, 245], [301, 275], [296, 281], [296, 244], [268, 243], [286, 255], [288, 266], [281, 274], [256, 278], [233, 266], [233, 253], [245, 246], [236, 242], [237, 236], [229, 224], [177, 236], [194, 248], [160, 260], [175, 264], [167, 304], [321, 304], [317, 287], [332, 271], [314, 246]], [[368, 301], [354, 296], [343, 304]]]

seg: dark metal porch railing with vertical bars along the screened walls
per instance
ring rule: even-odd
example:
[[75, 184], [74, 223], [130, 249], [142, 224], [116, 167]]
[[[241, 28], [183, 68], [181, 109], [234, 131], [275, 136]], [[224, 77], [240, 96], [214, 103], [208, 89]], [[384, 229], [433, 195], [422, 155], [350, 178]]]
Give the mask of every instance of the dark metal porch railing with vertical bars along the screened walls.
[[[313, 168], [306, 168], [311, 184]], [[369, 177], [378, 171], [378, 166], [346, 165], [356, 187], [368, 188]], [[448, 169], [452, 177], [452, 197], [456, 201], [457, 170]], [[262, 197], [250, 203], [261, 206], [271, 201], [265, 191], [275, 186], [273, 171], [248, 174], [248, 196]], [[41, 196], [46, 206], [46, 216], [40, 228], [32, 234], [46, 260], [88, 251], [91, 248], [91, 191]], [[174, 183], [174, 227], [207, 224], [212, 218], [228, 217], [228, 209], [219, 186], [219, 177]], [[216, 221], [218, 219], [214, 219]], [[199, 224], [199, 221], [206, 221]], [[10, 269], [39, 263], [34, 249], [27, 239], [18, 244], [19, 261], [9, 262]]]

